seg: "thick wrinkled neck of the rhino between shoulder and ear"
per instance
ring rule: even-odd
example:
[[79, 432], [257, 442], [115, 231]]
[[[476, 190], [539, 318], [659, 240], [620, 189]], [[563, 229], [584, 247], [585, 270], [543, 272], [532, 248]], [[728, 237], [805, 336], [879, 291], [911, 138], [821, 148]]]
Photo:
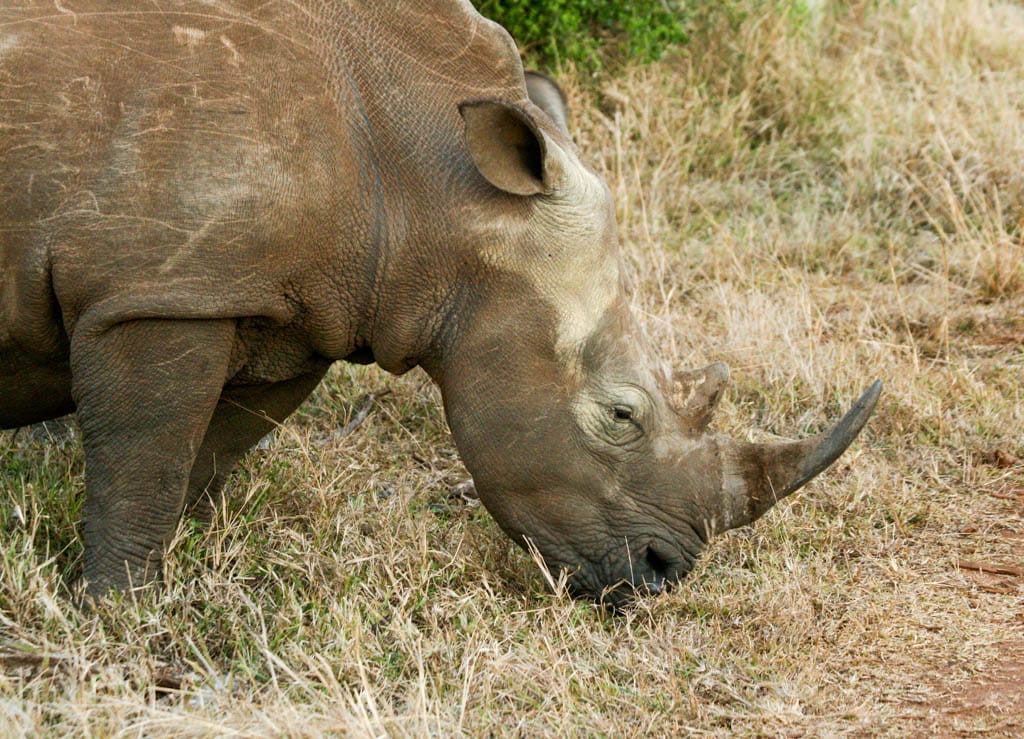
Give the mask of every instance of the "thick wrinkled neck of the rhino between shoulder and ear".
[[[456, 274], [465, 266], [456, 253], [464, 234], [454, 223], [478, 194], [458, 106], [522, 97], [518, 52], [465, 0], [319, 4], [312, 15], [310, 44], [339, 83], [328, 94], [352, 126], [359, 161], [352, 173], [359, 194], [345, 205], [368, 228], [348, 233], [359, 233], [372, 252], [365, 271], [339, 286], [359, 316], [342, 356], [366, 359], [369, 349], [388, 372], [423, 364], [436, 377], [451, 343], [444, 316], [458, 302]], [[431, 25], [424, 43], [428, 18], [443, 21]]]

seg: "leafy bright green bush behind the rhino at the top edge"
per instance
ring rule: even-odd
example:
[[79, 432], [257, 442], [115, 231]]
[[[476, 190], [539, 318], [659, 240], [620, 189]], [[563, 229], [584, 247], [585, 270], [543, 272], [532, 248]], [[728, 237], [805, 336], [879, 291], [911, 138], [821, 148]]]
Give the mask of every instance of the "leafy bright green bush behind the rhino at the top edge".
[[686, 40], [678, 0], [477, 0], [545, 67], [572, 61], [596, 71], [626, 58], [652, 61]]

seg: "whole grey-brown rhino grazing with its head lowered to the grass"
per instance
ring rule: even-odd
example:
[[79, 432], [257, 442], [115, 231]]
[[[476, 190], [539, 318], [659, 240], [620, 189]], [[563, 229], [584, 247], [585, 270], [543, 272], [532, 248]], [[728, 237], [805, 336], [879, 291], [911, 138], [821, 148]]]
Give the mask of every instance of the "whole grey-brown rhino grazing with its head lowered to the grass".
[[457, 0], [0, 7], [0, 426], [78, 412], [89, 594], [158, 577], [337, 359], [423, 366], [502, 528], [614, 604], [850, 443], [877, 385], [809, 441], [707, 433], [725, 366], [648, 358], [529, 84]]

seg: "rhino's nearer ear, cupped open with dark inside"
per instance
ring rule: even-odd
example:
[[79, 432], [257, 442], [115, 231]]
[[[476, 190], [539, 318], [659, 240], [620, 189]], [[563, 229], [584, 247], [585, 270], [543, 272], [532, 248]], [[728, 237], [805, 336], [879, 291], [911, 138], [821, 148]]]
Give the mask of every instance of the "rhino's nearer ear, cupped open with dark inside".
[[499, 189], [517, 195], [551, 191], [548, 144], [522, 108], [501, 100], [459, 105], [466, 122], [466, 146], [476, 169]]

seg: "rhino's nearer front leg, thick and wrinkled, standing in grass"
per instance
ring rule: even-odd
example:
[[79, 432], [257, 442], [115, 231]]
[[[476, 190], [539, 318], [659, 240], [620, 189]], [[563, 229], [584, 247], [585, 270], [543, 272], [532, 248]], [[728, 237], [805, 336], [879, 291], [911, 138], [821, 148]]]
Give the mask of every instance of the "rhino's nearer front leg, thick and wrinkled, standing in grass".
[[85, 447], [89, 595], [160, 577], [233, 336], [229, 320], [76, 329], [71, 363]]

